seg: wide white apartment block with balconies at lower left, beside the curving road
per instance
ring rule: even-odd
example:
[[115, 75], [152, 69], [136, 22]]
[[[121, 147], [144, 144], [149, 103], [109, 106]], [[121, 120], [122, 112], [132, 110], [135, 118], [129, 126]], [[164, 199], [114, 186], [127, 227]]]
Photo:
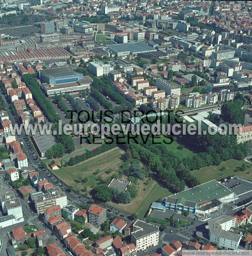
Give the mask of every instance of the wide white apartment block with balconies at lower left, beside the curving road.
[[47, 208], [59, 205], [61, 208], [67, 206], [66, 193], [60, 187], [47, 189], [47, 193], [34, 196], [34, 206], [37, 213], [43, 213]]

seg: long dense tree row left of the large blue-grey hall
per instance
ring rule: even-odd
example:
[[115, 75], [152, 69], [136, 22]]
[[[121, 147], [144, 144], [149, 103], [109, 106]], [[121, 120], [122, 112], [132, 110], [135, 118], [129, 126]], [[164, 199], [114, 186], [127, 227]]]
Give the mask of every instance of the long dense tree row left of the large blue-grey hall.
[[55, 122], [60, 119], [60, 117], [55, 112], [51, 102], [44, 93], [41, 91], [39, 84], [31, 74], [26, 74], [22, 76], [22, 80], [26, 83], [28, 88], [32, 93], [32, 97], [36, 101], [38, 107], [42, 110], [43, 113], [47, 116], [47, 119], [50, 122]]

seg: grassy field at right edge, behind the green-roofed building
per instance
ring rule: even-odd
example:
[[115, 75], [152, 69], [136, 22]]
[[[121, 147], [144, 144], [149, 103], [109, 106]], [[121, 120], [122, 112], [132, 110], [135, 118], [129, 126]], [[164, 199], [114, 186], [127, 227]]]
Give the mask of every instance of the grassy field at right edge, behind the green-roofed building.
[[[245, 165], [247, 166], [247, 170], [243, 172], [236, 172], [236, 167], [241, 167], [243, 163], [245, 163]], [[225, 171], [220, 171], [220, 168], [223, 166], [226, 167]], [[234, 159], [223, 161], [222, 163], [220, 163], [220, 165], [210, 165], [199, 170], [192, 171], [191, 173], [192, 175], [196, 176], [201, 183], [210, 181], [212, 179], [216, 179], [217, 181], [219, 181], [220, 179], [226, 178], [230, 175], [240, 176], [244, 179], [252, 181], [252, 167], [250, 163]]]

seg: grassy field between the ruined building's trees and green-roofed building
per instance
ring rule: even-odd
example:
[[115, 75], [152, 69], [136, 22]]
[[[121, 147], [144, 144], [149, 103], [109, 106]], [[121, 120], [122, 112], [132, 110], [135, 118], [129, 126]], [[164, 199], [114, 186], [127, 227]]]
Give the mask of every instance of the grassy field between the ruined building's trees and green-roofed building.
[[171, 195], [168, 189], [161, 187], [152, 179], [148, 182], [147, 179], [139, 181], [138, 188], [138, 196], [131, 203], [123, 205], [110, 202], [109, 204], [130, 213], [137, 213], [138, 216], [143, 217], [153, 202], [160, 197]]

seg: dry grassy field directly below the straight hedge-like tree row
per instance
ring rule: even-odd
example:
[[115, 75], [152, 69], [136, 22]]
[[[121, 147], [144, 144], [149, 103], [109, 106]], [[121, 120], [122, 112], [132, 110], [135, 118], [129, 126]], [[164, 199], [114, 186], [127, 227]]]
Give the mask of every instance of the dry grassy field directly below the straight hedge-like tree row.
[[[86, 186], [87, 190], [90, 191], [92, 187], [99, 184], [98, 178], [107, 179], [113, 173], [117, 173], [119, 166], [123, 163], [123, 155], [124, 151], [115, 147], [74, 166], [60, 168], [58, 171], [53, 171], [53, 173], [68, 186], [71, 185], [79, 190]], [[105, 173], [108, 169], [111, 172]], [[98, 173], [94, 174], [94, 172]], [[88, 181], [85, 184], [79, 183], [79, 180], [85, 177]]]

